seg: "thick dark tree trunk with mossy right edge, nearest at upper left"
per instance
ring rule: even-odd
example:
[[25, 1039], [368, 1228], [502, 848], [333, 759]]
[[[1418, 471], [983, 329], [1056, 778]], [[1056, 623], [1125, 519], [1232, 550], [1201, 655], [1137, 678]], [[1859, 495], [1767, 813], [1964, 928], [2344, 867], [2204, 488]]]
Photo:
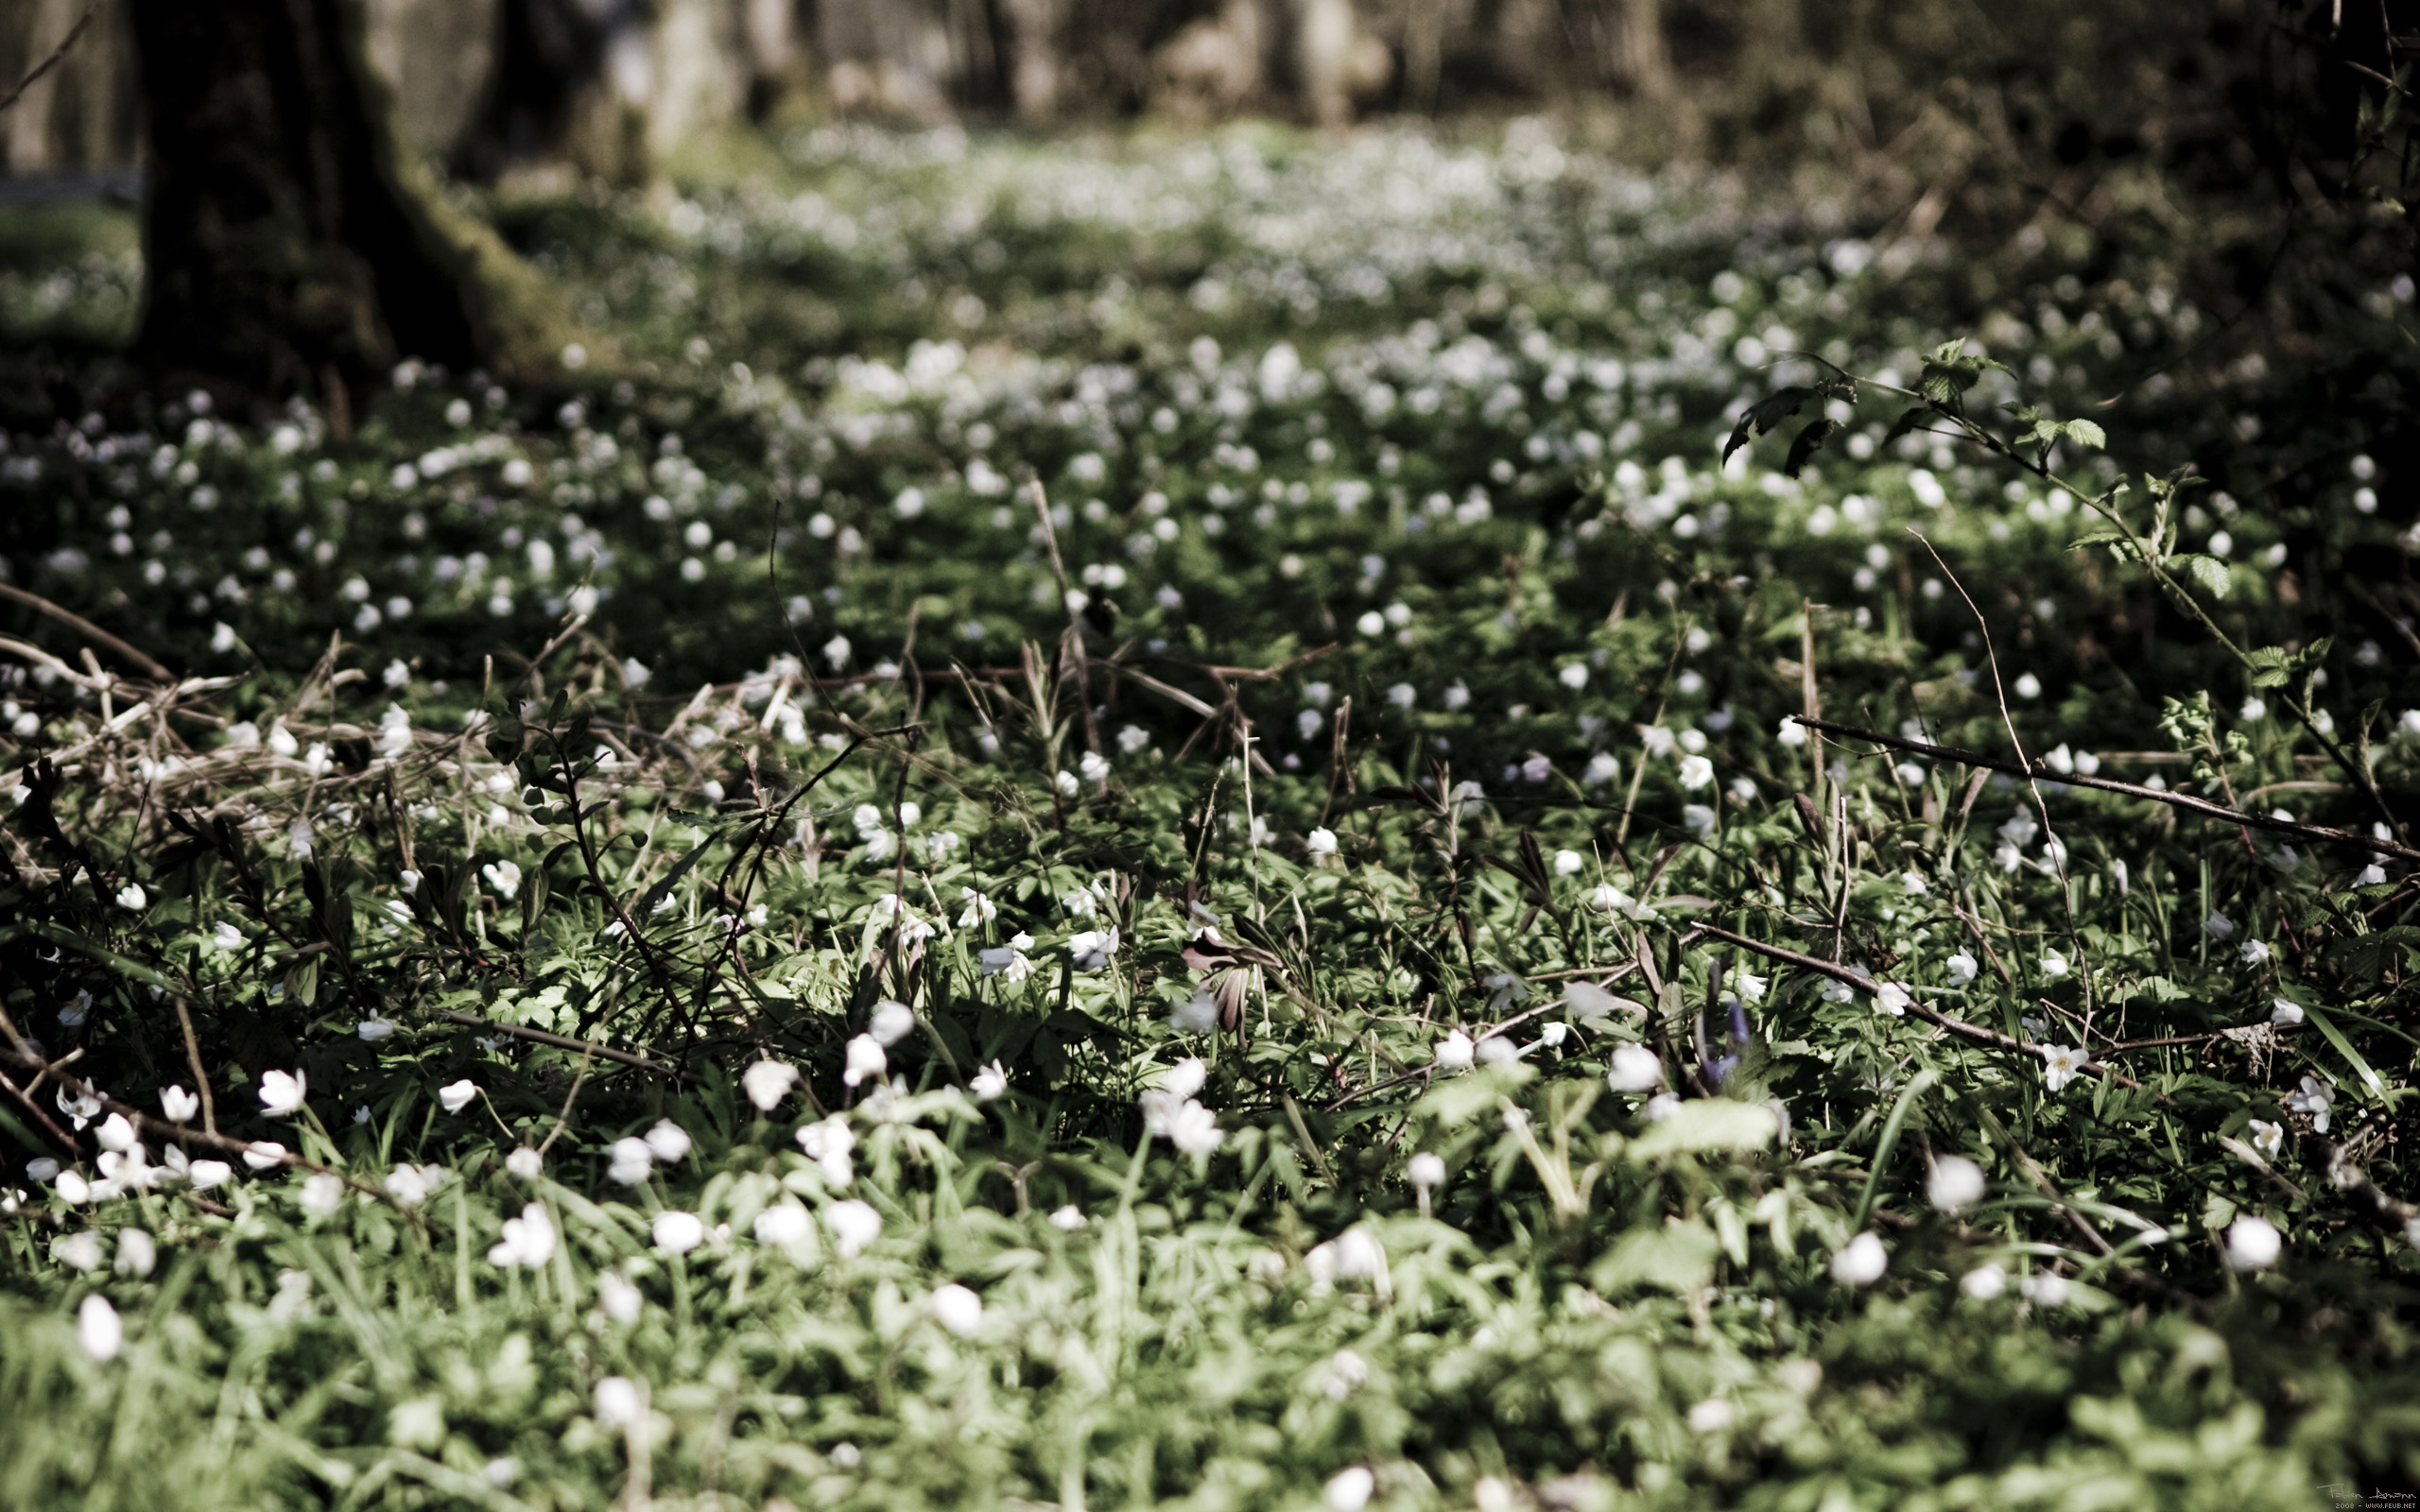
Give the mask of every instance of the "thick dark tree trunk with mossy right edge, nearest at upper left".
[[150, 109], [150, 358], [339, 406], [402, 356], [552, 363], [559, 300], [404, 145], [361, 0], [131, 10]]

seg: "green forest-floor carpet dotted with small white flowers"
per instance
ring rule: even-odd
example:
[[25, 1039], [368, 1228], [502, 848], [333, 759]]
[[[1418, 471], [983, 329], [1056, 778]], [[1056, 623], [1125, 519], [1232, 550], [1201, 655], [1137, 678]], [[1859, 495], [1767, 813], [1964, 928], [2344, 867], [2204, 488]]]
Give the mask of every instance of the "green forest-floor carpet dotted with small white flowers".
[[[2292, 498], [2173, 496], [2171, 593], [2072, 542], [2093, 501], [2151, 532], [2149, 477], [2275, 392], [2144, 380], [2207, 319], [2156, 266], [1907, 259], [1842, 215], [1527, 126], [820, 133], [668, 210], [499, 210], [620, 365], [414, 370], [351, 440], [179, 394], [17, 426], [0, 506], [56, 539], [10, 581], [206, 682], [119, 719], [143, 689], [19, 622], [65, 660], [12, 653], [0, 709], [10, 1043], [143, 1110], [198, 1057], [220, 1130], [358, 1188], [12, 1168], [0, 1497], [1343, 1507], [1362, 1468], [1372, 1507], [2081, 1510], [2420, 1473], [2413, 1246], [2343, 1176], [2408, 1190], [2408, 866], [1784, 740], [1813, 685], [2367, 835], [2289, 706], [2410, 808], [2408, 663], [2328, 590], [2396, 549], [2393, 455], [2270, 428]], [[2393, 351], [2381, 300], [2347, 339]], [[2016, 394], [2101, 419], [2050, 455], [2076, 494], [1892, 438], [1871, 382], [1803, 477], [1786, 438], [1723, 462], [1817, 377], [1791, 353], [1917, 387], [1960, 334], [2013, 368], [1984, 435]], [[1508, 1021], [1517, 1057], [1457, 1069]], [[2125, 1081], [2052, 1089], [2038, 1045]], [[801, 1072], [762, 1113], [760, 1060]], [[65, 1125], [56, 1077], [36, 1106]], [[687, 1149], [629, 1168], [663, 1120]], [[34, 1125], [0, 1106], [19, 1164]], [[1951, 1156], [1980, 1193], [1936, 1202]], [[155, 1265], [114, 1270], [131, 1229]]]

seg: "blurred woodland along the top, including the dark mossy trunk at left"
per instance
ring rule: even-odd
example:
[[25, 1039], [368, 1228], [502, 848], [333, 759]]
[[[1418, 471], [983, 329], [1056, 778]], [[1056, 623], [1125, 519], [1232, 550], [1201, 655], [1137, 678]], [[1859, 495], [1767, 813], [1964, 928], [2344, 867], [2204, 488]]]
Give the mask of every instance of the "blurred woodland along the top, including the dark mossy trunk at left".
[[[44, 56], [80, 10], [82, 0], [0, 0], [0, 77]], [[1263, 114], [1343, 126], [1392, 111], [1450, 121], [1551, 111], [1590, 145], [1638, 162], [1796, 179], [1776, 213], [1784, 201], [1788, 213], [1844, 206], [1844, 230], [1885, 252], [1965, 249], [1975, 319], [2035, 254], [2086, 278], [2156, 256], [2214, 317], [2197, 358], [2205, 373], [2168, 375], [2163, 392], [2209, 397], [2209, 373], [2243, 377], [2251, 353], [2270, 368], [2316, 360], [2333, 339], [2330, 310], [2355, 298], [2343, 290], [2413, 264], [2410, 138], [2398, 114], [2408, 94], [2396, 82], [2401, 39], [2420, 31], [2413, 10], [2415, 0], [106, 0], [65, 65], [0, 119], [12, 174], [0, 194], [60, 174], [131, 191], [128, 174], [148, 157], [145, 341], [179, 358], [235, 353], [220, 360], [257, 382], [324, 387], [329, 370], [378, 370], [390, 348], [511, 365], [554, 334], [501, 249], [419, 179], [421, 157], [511, 196], [646, 186], [736, 140], [733, 128], [828, 116], [1082, 126]], [[281, 19], [271, 31], [293, 36], [278, 60], [261, 51], [271, 19]], [[138, 63], [160, 48], [174, 51], [155, 68]], [[254, 80], [257, 109], [189, 131], [196, 121], [174, 114], [201, 109], [220, 70]], [[264, 92], [271, 75], [283, 85]], [[336, 126], [339, 116], [353, 123]], [[232, 135], [206, 145], [213, 133]], [[252, 148], [235, 145], [242, 133]], [[397, 135], [414, 150], [392, 152]], [[315, 140], [312, 162], [336, 167], [305, 172], [302, 157], [273, 167], [271, 140]], [[213, 165], [203, 179], [179, 167], [186, 155]], [[329, 235], [370, 237], [351, 242], [351, 264], [312, 264], [312, 288], [334, 298], [312, 317], [317, 334], [288, 331], [283, 346], [247, 339], [237, 327], [259, 314], [257, 300], [237, 314], [240, 302], [203, 293], [223, 285], [198, 264], [177, 271], [203, 252], [189, 196], [211, 174], [227, 184], [249, 174], [244, 194], [281, 181], [271, 198], [290, 235], [278, 256], [295, 269]], [[305, 184], [312, 174], [327, 181]], [[305, 235], [312, 215], [336, 230]], [[363, 230], [378, 225], [409, 235]], [[445, 281], [477, 290], [474, 266], [501, 271], [518, 293], [426, 293]], [[2355, 368], [2364, 370], [2321, 382], [2401, 426], [2379, 363]], [[2229, 402], [2246, 392], [2236, 385]], [[2217, 433], [2202, 440], [2226, 445]]]

